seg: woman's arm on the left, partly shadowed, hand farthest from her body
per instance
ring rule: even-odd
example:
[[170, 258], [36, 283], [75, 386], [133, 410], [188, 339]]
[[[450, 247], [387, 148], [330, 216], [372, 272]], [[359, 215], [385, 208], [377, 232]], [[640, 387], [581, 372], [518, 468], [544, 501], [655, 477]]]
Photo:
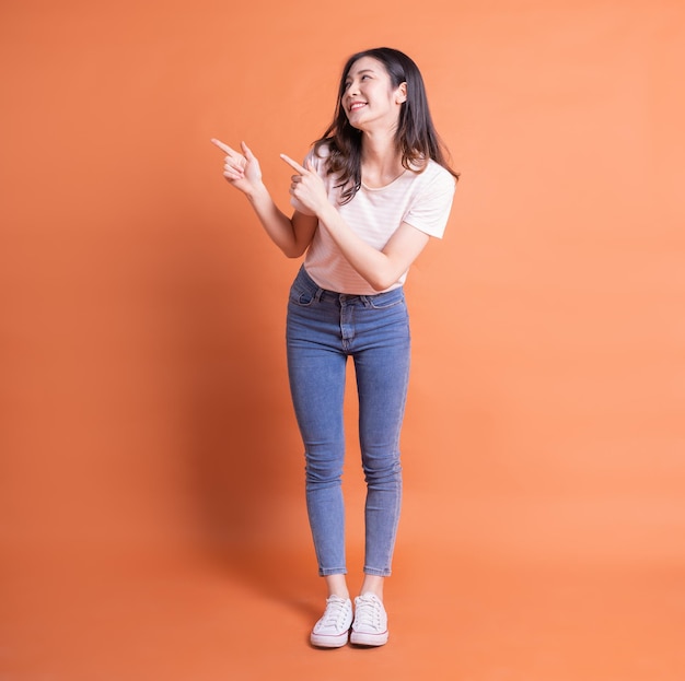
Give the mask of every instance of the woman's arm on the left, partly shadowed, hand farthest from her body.
[[247, 197], [271, 240], [289, 258], [300, 257], [312, 242], [318, 222], [316, 216], [295, 211], [288, 218], [279, 210], [262, 181], [259, 162], [245, 142], [241, 142], [242, 154], [219, 140], [212, 139], [212, 143], [227, 154], [223, 176]]

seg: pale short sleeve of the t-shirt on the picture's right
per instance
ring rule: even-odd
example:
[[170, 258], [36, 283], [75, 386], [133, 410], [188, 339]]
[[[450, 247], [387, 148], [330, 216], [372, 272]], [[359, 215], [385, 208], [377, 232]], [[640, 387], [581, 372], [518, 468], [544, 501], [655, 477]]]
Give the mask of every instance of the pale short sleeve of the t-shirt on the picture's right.
[[423, 171], [420, 190], [409, 204], [403, 222], [442, 238], [452, 210], [456, 181], [449, 171], [437, 163]]

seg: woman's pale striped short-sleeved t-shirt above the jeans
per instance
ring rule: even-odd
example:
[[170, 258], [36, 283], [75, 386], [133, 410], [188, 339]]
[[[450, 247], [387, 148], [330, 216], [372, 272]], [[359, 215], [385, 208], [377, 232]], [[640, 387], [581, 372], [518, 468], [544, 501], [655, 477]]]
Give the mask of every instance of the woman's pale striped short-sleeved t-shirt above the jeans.
[[[320, 152], [325, 154], [325, 148]], [[307, 155], [324, 180], [328, 200], [338, 209], [347, 225], [367, 244], [382, 250], [390, 237], [403, 222], [441, 238], [454, 197], [454, 177], [441, 165], [430, 160], [422, 173], [405, 171], [397, 179], [381, 188], [361, 188], [355, 198], [340, 206], [340, 189], [337, 177], [326, 175], [326, 158], [314, 152]], [[291, 201], [301, 209], [297, 200]], [[306, 211], [303, 211], [306, 212]], [[373, 295], [379, 293], [347, 261], [325, 227], [321, 225], [304, 258], [304, 269], [322, 287], [350, 295]], [[385, 291], [404, 284], [407, 272]]]

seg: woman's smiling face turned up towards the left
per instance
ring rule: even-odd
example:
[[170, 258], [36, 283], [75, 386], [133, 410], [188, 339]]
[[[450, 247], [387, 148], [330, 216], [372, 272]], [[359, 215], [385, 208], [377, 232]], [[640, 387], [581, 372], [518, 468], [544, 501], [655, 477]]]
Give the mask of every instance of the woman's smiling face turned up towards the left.
[[394, 129], [406, 99], [406, 83], [395, 87], [381, 61], [362, 57], [352, 63], [347, 73], [340, 103], [353, 128], [370, 130], [382, 126]]

